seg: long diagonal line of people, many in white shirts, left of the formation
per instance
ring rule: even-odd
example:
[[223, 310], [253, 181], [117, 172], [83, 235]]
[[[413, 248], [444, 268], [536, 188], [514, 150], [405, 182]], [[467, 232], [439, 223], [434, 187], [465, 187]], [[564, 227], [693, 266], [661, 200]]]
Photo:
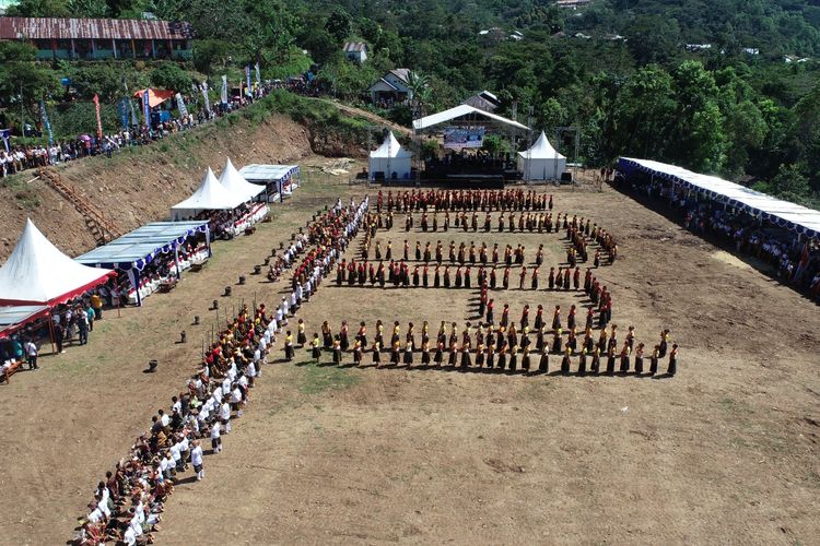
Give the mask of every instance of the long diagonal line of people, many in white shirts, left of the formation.
[[222, 438], [231, 432], [232, 422], [242, 416], [277, 336], [284, 337], [289, 360], [295, 357], [296, 344], [307, 343], [304, 321], [293, 322], [296, 311], [315, 294], [321, 277], [356, 236], [367, 203], [365, 198], [359, 204], [351, 200], [342, 206], [339, 200], [308, 225], [307, 234], [294, 235], [290, 247], [279, 257], [282, 260], [279, 274], [293, 270], [290, 298], [283, 297], [272, 310], [265, 305], [253, 310], [243, 306], [226, 324], [207, 348], [202, 366], [186, 389], [172, 397], [171, 408], [157, 412], [151, 429], [138, 438], [115, 471], [99, 482], [74, 544], [153, 542], [153, 533], [160, 530], [163, 503], [173, 494], [174, 485], [186, 474], [189, 479], [203, 479], [204, 455], [222, 452]]

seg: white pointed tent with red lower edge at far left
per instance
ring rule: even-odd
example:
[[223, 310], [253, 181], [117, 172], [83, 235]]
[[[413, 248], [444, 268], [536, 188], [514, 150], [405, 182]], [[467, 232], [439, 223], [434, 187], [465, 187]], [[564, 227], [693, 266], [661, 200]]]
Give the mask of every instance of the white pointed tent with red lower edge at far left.
[[51, 245], [27, 219], [9, 259], [0, 268], [0, 306], [55, 306], [115, 275], [75, 262]]

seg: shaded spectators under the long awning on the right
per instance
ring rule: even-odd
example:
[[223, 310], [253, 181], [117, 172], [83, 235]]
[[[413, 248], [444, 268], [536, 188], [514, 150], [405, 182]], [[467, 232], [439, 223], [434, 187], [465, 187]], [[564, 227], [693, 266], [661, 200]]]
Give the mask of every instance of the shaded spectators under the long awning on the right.
[[716, 237], [731, 245], [738, 253], [765, 261], [774, 268], [782, 283], [820, 302], [820, 244], [817, 240], [798, 239], [794, 233], [774, 225], [765, 227], [749, 213], [696, 198], [694, 193], [690, 195], [688, 190], [676, 189], [659, 179], [644, 181], [618, 176], [616, 180], [621, 188], [671, 210], [687, 229]]

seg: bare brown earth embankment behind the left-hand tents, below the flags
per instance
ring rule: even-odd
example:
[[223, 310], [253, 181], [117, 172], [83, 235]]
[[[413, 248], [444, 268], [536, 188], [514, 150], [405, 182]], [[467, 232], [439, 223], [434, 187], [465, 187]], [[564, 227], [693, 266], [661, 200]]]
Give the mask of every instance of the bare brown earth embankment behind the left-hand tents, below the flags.
[[[167, 218], [168, 209], [188, 197], [206, 167], [219, 173], [225, 158], [250, 163], [298, 164], [313, 155], [362, 156], [366, 122], [342, 115], [330, 103], [281, 93], [213, 123], [172, 134], [151, 145], [122, 149], [54, 168], [124, 232]], [[0, 181], [0, 259], [9, 256], [31, 217], [61, 250], [75, 256], [95, 246], [74, 205], [25, 170]]]

